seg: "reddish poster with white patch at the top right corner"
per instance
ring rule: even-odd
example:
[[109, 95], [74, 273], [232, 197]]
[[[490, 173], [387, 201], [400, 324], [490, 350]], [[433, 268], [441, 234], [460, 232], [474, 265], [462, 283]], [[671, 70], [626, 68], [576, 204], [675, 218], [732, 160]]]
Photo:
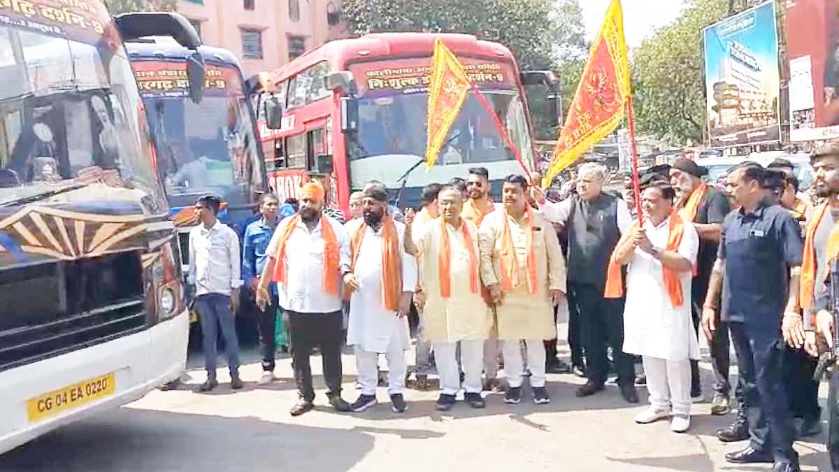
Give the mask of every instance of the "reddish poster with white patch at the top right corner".
[[788, 0], [789, 139], [839, 138], [839, 3]]

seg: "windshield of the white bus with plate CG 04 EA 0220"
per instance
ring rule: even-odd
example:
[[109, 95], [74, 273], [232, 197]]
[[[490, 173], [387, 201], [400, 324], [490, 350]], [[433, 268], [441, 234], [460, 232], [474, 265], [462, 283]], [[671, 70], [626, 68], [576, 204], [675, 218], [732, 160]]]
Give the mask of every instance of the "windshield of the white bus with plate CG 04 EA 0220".
[[91, 183], [162, 198], [128, 57], [90, 33], [0, 26], [0, 206]]

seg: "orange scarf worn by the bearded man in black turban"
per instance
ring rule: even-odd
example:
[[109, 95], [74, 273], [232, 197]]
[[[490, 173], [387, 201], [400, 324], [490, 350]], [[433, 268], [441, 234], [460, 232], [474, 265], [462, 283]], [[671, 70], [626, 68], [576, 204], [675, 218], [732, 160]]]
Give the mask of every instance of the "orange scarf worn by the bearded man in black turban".
[[[361, 254], [367, 223], [362, 223], [352, 235], [352, 270], [356, 269], [358, 255]], [[347, 296], [349, 293], [347, 293]], [[382, 302], [386, 310], [399, 310], [402, 298], [402, 255], [399, 253], [399, 233], [393, 217], [385, 216], [382, 220]]]

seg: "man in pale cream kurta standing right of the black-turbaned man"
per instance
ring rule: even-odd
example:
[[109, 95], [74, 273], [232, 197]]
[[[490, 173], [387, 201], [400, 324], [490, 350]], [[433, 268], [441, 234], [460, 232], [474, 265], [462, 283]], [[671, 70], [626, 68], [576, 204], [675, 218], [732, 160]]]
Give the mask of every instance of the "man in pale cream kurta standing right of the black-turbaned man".
[[425, 294], [421, 315], [424, 338], [434, 347], [440, 374], [437, 409], [450, 410], [461, 390], [456, 359], [458, 343], [466, 401], [473, 408], [483, 408], [486, 406], [481, 397], [483, 343], [492, 327], [492, 316], [481, 297], [478, 230], [475, 223], [461, 218], [463, 204], [459, 190], [445, 187], [438, 202], [440, 218], [426, 224], [417, 241]]

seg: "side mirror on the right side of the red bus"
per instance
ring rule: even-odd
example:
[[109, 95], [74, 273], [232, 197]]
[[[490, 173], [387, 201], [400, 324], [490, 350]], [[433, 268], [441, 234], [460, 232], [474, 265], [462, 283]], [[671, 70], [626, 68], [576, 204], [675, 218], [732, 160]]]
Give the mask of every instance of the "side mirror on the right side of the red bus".
[[525, 71], [521, 74], [521, 80], [536, 139], [556, 139], [562, 124], [559, 80], [551, 71]]

